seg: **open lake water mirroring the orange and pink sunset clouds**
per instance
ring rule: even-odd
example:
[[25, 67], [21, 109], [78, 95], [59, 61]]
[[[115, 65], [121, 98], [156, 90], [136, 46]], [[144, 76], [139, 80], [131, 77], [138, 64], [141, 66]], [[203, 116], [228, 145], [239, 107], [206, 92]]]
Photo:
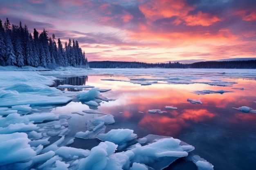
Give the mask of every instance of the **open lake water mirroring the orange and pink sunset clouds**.
[[[153, 84], [141, 86], [129, 82], [102, 81], [107, 76], [88, 76], [74, 78], [72, 85], [85, 85], [99, 88], [112, 88], [112, 91], [102, 93], [108, 98], [117, 99], [101, 102], [98, 110], [115, 116], [115, 124], [107, 126], [106, 131], [117, 128], [130, 128], [139, 136], [148, 134], [166, 135], [181, 139], [195, 146], [195, 154], [200, 155], [214, 165], [215, 170], [249, 170], [256, 166], [256, 114], [241, 113], [232, 107], [249, 106], [256, 109], [256, 81], [248, 79], [233, 79], [234, 86], [209, 86], [207, 84]], [[121, 79], [115, 77], [115, 79]], [[59, 82], [59, 84], [70, 84]], [[83, 82], [83, 84], [82, 84]], [[231, 89], [243, 87], [250, 90]], [[197, 95], [195, 90], [224, 90], [234, 93]], [[187, 98], [200, 99], [202, 104], [185, 104]], [[65, 106], [67, 110], [78, 108]], [[175, 106], [177, 110], [167, 110], [164, 106]], [[85, 106], [83, 106], [85, 107]], [[88, 110], [83, 108], [83, 110]], [[95, 108], [92, 108], [95, 109]], [[160, 109], [166, 113], [150, 114], [148, 110]], [[55, 110], [58, 112], [58, 110]], [[77, 110], [81, 111], [81, 110]], [[122, 113], [122, 114], [119, 114]], [[72, 115], [73, 116], [73, 115]], [[81, 115], [75, 115], [76, 120], [70, 120], [70, 128], [74, 131], [84, 131]], [[79, 139], [80, 140], [80, 139]], [[75, 142], [76, 146], [79, 146]], [[84, 144], [83, 144], [84, 145]]]

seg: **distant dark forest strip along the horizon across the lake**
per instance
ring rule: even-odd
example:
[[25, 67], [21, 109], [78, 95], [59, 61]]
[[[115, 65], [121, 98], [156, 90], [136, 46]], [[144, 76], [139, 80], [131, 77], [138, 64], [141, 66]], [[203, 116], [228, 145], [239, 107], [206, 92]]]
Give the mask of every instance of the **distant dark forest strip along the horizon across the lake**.
[[248, 61], [220, 61], [196, 62], [193, 64], [169, 63], [144, 63], [144, 62], [89, 62], [90, 68], [256, 68], [256, 60]]

